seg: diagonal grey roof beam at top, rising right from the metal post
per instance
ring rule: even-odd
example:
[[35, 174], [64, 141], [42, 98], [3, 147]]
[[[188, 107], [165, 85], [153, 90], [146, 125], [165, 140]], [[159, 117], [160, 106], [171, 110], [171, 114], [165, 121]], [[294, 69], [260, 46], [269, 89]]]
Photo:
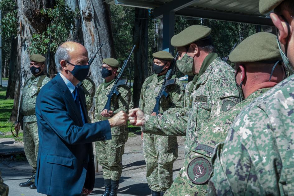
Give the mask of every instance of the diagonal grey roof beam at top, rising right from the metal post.
[[164, 12], [176, 12], [180, 9], [183, 9], [187, 6], [192, 5], [193, 3], [199, 0], [173, 0], [166, 4], [161, 5], [153, 10], [154, 18], [161, 18]]

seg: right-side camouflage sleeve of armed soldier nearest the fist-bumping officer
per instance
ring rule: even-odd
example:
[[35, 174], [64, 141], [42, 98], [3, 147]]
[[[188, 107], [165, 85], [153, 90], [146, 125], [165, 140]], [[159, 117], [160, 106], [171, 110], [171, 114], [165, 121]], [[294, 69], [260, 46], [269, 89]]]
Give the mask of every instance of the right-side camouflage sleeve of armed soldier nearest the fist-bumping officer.
[[166, 110], [163, 114], [175, 114], [176, 112], [180, 112], [183, 108], [185, 89], [182, 82], [178, 78], [175, 78], [175, 80], [175, 86], [170, 92], [170, 108]]

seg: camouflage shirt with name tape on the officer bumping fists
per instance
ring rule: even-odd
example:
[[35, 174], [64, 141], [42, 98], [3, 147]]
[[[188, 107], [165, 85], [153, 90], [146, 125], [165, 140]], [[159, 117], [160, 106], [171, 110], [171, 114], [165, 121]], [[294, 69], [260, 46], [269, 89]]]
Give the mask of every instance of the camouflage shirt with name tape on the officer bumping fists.
[[218, 57], [194, 85], [188, 107], [174, 115], [146, 115], [143, 130], [159, 135], [184, 135], [186, 127], [187, 154], [202, 125], [238, 102], [234, 70]]

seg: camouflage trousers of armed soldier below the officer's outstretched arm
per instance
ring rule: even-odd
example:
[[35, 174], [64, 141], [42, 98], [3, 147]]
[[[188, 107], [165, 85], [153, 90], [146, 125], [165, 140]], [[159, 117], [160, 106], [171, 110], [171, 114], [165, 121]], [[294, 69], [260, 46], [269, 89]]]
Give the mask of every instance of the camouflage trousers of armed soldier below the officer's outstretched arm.
[[153, 191], [166, 191], [173, 181], [173, 163], [178, 158], [176, 136], [143, 133], [146, 178]]

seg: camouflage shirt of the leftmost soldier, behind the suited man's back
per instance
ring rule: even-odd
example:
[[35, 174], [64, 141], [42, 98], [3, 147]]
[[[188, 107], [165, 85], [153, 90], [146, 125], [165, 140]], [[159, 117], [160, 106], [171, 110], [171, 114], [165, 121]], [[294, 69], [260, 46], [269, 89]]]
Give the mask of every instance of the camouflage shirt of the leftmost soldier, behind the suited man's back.
[[[37, 118], [35, 115], [35, 104], [38, 96], [38, 87], [37, 83], [40, 79], [40, 75], [38, 77], [32, 76], [26, 82], [25, 86], [22, 89], [21, 93], [21, 105], [20, 105], [20, 113], [23, 116], [23, 122], [36, 122]], [[40, 89], [50, 81], [49, 77], [45, 77], [42, 82], [42, 86]], [[39, 89], [39, 91], [40, 91]]]

